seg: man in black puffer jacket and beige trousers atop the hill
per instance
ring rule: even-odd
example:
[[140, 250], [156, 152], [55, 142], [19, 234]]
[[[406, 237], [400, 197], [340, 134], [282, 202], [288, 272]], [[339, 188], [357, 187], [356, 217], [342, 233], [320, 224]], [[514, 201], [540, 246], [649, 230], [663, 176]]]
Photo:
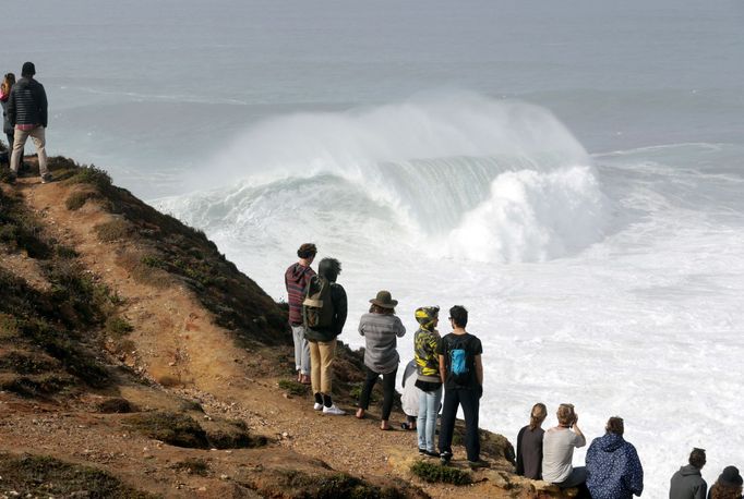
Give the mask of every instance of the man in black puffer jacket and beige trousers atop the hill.
[[47, 170], [46, 133], [47, 127], [47, 93], [44, 86], [34, 80], [36, 68], [33, 62], [24, 62], [19, 80], [8, 98], [8, 120], [14, 127], [13, 155], [11, 172], [17, 174], [23, 160], [23, 146], [31, 137], [36, 146], [39, 159], [41, 182], [51, 181]]

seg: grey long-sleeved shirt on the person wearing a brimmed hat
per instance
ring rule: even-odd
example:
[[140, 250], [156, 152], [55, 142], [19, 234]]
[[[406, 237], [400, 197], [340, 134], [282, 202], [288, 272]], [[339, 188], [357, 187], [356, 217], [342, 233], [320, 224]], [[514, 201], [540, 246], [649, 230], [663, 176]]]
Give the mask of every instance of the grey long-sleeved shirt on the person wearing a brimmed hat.
[[406, 333], [406, 327], [395, 315], [364, 314], [359, 321], [359, 333], [364, 337], [364, 365], [379, 374], [392, 373], [400, 357], [397, 339]]

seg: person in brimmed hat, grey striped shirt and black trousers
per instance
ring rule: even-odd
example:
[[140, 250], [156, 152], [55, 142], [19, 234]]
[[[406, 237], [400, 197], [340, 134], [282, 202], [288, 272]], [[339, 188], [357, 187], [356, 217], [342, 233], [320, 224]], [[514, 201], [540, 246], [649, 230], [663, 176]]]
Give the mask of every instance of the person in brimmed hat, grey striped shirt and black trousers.
[[397, 300], [393, 300], [389, 291], [380, 291], [370, 300], [370, 312], [362, 315], [359, 321], [359, 333], [364, 337], [364, 367], [367, 379], [359, 399], [357, 417], [364, 417], [370, 406], [370, 394], [382, 375], [383, 404], [382, 423], [380, 429], [391, 429], [388, 419], [393, 410], [395, 394], [395, 376], [398, 372], [400, 356], [397, 350], [397, 339], [406, 333], [400, 319], [395, 315]]

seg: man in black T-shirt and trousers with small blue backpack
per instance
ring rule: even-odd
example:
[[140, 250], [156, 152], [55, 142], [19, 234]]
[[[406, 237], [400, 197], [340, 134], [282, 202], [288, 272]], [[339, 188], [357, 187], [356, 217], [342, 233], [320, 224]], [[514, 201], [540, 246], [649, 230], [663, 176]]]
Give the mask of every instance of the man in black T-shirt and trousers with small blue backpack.
[[449, 308], [453, 331], [442, 338], [436, 346], [440, 360], [440, 378], [444, 385], [444, 404], [440, 428], [440, 459], [442, 464], [452, 460], [452, 438], [458, 406], [465, 414], [465, 449], [471, 468], [487, 466], [480, 459], [478, 412], [483, 394], [483, 346], [480, 340], [465, 330], [468, 311], [460, 305]]

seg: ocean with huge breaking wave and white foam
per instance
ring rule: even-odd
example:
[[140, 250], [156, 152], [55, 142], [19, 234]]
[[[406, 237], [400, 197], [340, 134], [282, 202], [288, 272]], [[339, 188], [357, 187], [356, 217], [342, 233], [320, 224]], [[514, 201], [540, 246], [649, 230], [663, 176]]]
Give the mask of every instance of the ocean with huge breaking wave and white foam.
[[416, 307], [461, 304], [484, 427], [514, 440], [533, 403], [549, 426], [573, 402], [591, 439], [620, 415], [650, 498], [693, 447], [709, 484], [744, 467], [740, 2], [4, 11], [23, 42], [0, 63], [36, 63], [50, 154], [203, 229], [277, 300], [314, 241], [343, 261], [344, 341], [381, 289], [403, 358]]

